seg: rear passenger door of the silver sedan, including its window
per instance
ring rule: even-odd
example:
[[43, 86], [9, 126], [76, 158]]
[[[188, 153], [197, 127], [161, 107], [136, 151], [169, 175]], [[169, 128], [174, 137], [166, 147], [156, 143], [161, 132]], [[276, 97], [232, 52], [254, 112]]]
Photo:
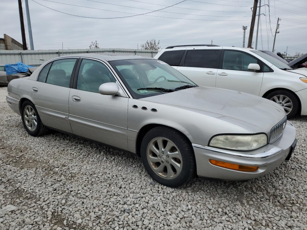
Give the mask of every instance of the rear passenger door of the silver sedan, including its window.
[[33, 81], [30, 97], [44, 125], [72, 132], [68, 121], [69, 83], [76, 58], [59, 59], [45, 65]]

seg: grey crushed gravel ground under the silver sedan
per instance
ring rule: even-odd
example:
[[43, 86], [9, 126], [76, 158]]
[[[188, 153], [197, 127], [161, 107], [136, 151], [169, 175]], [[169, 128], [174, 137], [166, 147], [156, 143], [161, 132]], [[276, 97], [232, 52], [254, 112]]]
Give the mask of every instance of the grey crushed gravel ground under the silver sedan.
[[174, 189], [138, 157], [60, 132], [32, 137], [4, 102], [0, 113], [0, 229], [307, 230], [307, 117], [292, 120], [294, 155], [270, 174]]

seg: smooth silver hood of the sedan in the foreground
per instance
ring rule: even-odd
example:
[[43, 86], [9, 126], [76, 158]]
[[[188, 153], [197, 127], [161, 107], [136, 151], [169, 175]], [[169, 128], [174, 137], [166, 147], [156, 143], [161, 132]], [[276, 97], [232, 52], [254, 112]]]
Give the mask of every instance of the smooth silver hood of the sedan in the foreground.
[[189, 109], [255, 132], [269, 132], [286, 115], [280, 105], [265, 98], [205, 86], [142, 98], [142, 100]]

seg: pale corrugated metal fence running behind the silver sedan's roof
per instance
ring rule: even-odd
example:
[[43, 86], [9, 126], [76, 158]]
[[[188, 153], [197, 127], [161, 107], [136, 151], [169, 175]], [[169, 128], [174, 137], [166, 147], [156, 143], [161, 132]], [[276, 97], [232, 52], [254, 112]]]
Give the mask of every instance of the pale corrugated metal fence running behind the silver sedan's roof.
[[70, 54], [82, 53], [116, 53], [154, 57], [157, 50], [137, 49], [69, 49], [69, 50], [0, 50], [0, 64], [22, 62], [27, 65], [39, 66], [45, 61]]

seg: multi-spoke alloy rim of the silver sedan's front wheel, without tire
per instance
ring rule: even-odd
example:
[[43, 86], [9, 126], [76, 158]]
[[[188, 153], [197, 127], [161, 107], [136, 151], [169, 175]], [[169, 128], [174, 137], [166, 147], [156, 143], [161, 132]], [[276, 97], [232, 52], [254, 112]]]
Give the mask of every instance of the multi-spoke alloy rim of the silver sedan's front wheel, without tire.
[[182, 170], [182, 157], [169, 139], [157, 137], [147, 147], [147, 160], [153, 171], [164, 179], [177, 177]]

